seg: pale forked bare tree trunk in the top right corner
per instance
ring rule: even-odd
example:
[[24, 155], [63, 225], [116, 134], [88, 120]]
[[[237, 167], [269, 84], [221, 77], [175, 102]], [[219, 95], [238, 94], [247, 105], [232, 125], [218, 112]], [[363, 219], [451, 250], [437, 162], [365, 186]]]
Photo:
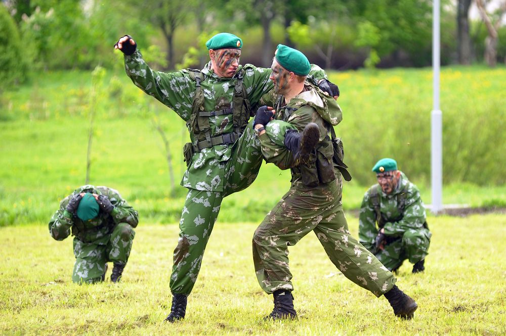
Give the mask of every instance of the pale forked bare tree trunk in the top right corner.
[[483, 0], [476, 0], [476, 6], [488, 31], [488, 36], [485, 39], [485, 61], [489, 66], [495, 67], [497, 64], [497, 42], [499, 39], [497, 30], [501, 24], [502, 16], [506, 13], [506, 1], [501, 2], [499, 8], [496, 10], [497, 19], [495, 23], [492, 22], [491, 15], [487, 13], [486, 5], [487, 3]]

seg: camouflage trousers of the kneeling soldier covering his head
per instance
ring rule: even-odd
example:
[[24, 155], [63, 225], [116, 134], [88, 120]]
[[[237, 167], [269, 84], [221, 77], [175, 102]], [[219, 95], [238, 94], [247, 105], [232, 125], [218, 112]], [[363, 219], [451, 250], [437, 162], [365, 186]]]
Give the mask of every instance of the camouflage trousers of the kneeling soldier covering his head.
[[75, 264], [72, 281], [94, 283], [102, 280], [107, 262], [126, 264], [132, 249], [135, 231], [127, 223], [119, 223], [106, 245], [84, 243], [74, 237]]

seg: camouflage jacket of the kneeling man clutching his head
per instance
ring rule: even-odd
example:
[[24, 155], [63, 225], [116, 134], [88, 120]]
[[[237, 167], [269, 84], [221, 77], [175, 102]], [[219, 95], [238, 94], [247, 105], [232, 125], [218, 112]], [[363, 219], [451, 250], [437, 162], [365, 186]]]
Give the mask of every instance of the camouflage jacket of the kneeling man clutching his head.
[[[114, 209], [110, 214], [99, 212], [92, 220], [83, 222], [76, 215], [65, 211], [70, 198], [79, 193], [95, 193], [109, 198]], [[109, 233], [118, 223], [128, 223], [136, 227], [139, 215], [131, 206], [121, 198], [117, 190], [106, 186], [83, 185], [64, 198], [58, 209], [49, 221], [49, 233], [57, 241], [62, 241], [72, 232], [81, 242], [105, 245], [109, 241]]]

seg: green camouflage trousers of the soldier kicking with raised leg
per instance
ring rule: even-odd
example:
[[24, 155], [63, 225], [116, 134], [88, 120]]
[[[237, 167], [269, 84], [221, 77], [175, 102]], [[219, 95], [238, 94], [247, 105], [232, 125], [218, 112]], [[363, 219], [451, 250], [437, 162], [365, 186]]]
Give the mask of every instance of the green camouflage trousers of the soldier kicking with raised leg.
[[179, 222], [179, 242], [174, 250], [170, 280], [173, 294], [188, 296], [191, 293], [223, 198], [249, 186], [257, 177], [261, 165], [260, 141], [253, 132], [251, 120], [234, 144], [232, 156], [225, 167], [224, 191], [188, 189]]

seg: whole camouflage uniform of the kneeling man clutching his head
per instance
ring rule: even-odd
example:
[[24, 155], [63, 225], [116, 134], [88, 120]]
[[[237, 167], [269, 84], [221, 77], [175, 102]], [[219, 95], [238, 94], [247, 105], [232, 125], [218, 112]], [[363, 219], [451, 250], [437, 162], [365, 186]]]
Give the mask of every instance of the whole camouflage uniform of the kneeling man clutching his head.
[[[89, 221], [83, 222], [77, 216], [67, 217], [65, 208], [73, 195], [80, 193], [105, 195], [114, 209], [110, 214], [100, 212]], [[121, 198], [117, 190], [106, 186], [83, 185], [60, 202], [60, 209], [49, 222], [49, 232], [57, 241], [71, 233], [74, 236], [73, 282], [93, 283], [100, 281], [107, 262], [126, 264], [132, 249], [139, 217], [137, 211]]]

